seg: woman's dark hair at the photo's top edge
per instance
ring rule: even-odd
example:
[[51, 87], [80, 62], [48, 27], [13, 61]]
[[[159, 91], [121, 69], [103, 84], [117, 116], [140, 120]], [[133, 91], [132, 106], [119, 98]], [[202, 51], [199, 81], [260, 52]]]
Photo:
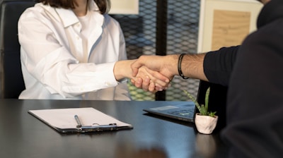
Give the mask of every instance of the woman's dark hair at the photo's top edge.
[[[55, 8], [75, 8], [78, 6], [74, 0], [36, 0], [37, 2], [42, 2], [42, 4], [49, 4]], [[91, 0], [89, 0], [91, 1]], [[98, 5], [101, 14], [108, 13], [110, 10], [110, 0], [93, 0]]]

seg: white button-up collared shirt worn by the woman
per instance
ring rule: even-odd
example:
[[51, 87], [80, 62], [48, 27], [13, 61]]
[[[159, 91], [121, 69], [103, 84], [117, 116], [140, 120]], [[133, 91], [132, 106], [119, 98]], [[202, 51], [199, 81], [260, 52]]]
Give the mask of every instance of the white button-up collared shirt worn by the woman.
[[20, 99], [129, 100], [117, 83], [115, 62], [127, 59], [119, 23], [88, 5], [89, 35], [71, 9], [35, 4], [18, 21], [25, 90]]

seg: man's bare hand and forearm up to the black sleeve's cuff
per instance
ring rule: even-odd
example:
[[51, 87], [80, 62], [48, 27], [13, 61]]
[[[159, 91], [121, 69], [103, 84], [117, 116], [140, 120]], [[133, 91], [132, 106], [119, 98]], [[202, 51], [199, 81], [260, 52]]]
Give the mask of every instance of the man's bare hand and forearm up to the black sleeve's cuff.
[[[203, 71], [203, 59], [205, 54], [185, 54], [182, 61], [179, 61], [180, 54], [173, 54], [167, 56], [140, 56], [137, 61], [132, 63], [133, 76], [137, 75], [137, 71], [141, 66], [146, 66], [147, 68], [157, 71], [166, 77], [172, 79], [174, 75], [179, 75], [178, 62], [180, 62], [180, 69], [187, 78], [199, 78], [201, 80], [207, 80]], [[158, 75], [158, 73], [156, 73]], [[151, 74], [155, 78], [158, 78], [155, 74]], [[139, 80], [139, 82], [132, 83], [136, 87], [142, 87], [143, 90], [149, 90], [154, 92], [154, 85], [150, 82], [144, 82], [144, 80]], [[151, 84], [151, 85], [149, 85]], [[160, 86], [159, 86], [160, 87]]]

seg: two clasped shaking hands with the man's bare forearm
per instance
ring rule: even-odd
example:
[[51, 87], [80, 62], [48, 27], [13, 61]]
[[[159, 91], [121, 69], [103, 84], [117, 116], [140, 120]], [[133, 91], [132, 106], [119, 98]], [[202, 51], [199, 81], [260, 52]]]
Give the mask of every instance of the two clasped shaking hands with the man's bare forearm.
[[[114, 69], [115, 77], [117, 80], [122, 77], [130, 78], [133, 85], [145, 91], [162, 91], [170, 86], [174, 75], [180, 75], [184, 79], [207, 80], [202, 66], [204, 56], [205, 54], [172, 54], [118, 61]], [[123, 75], [119, 77], [117, 74]]]

